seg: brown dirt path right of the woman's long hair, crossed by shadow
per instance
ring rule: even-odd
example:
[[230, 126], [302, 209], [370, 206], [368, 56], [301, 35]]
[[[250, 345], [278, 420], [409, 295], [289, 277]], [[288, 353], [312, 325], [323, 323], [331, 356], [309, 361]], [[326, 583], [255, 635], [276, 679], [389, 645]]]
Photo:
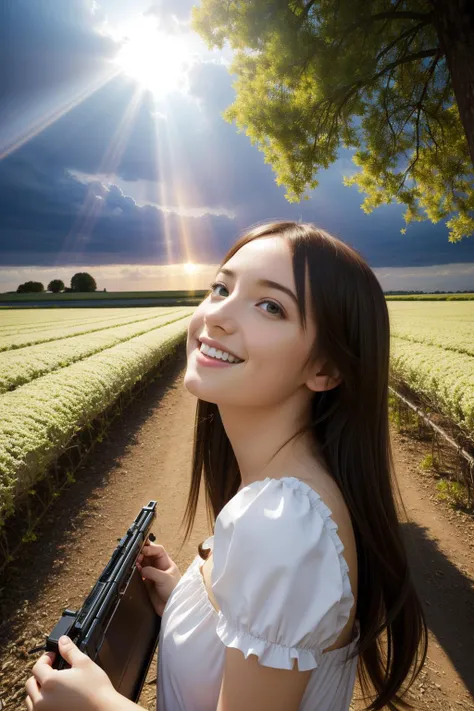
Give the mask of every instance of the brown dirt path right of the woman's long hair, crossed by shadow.
[[419, 469], [431, 446], [394, 428], [391, 437], [408, 516], [404, 539], [429, 628], [425, 668], [412, 689], [416, 706], [474, 709], [474, 520], [439, 501], [436, 478]]

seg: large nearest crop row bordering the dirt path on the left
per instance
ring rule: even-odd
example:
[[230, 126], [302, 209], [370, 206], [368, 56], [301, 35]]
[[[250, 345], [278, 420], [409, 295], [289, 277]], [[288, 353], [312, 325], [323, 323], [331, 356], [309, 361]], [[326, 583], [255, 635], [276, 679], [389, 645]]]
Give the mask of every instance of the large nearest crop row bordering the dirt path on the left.
[[0, 527], [80, 429], [186, 337], [190, 316], [0, 395]]

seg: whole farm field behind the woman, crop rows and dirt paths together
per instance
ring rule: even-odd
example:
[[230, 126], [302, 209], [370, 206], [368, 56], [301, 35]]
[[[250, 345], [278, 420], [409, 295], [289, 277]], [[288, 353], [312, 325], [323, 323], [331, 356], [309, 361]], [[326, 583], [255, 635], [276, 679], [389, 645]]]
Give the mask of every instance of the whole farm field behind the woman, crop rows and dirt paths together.
[[[387, 300], [388, 301], [388, 300]], [[474, 311], [469, 303], [390, 300], [391, 371], [433, 409], [472, 434]], [[209, 534], [201, 497], [191, 540], [177, 552], [189, 491], [195, 400], [181, 387], [183, 342], [194, 308], [9, 310], [0, 313], [0, 501], [14, 508], [38, 494], [41, 476], [91, 420], [160, 364], [148, 383], [2, 573], [0, 692], [19, 708], [34, 658], [64, 609], [78, 609], [117, 540], [144, 503], [158, 499], [155, 532], [182, 571]], [[159, 367], [161, 371], [161, 366]], [[145, 380], [145, 379], [144, 379]], [[140, 386], [142, 387], [142, 385]], [[472, 515], [438, 499], [437, 476], [420, 468], [432, 451], [391, 425], [397, 481], [407, 505], [410, 569], [425, 601], [430, 637], [422, 683], [410, 701], [420, 711], [472, 705]], [[43, 482], [44, 483], [44, 482]], [[2, 509], [6, 520], [8, 509]], [[1, 529], [1, 523], [0, 523]], [[0, 544], [2, 543], [0, 530]], [[21, 538], [21, 536], [20, 536]], [[15, 551], [16, 553], [16, 551]], [[27, 571], [27, 574], [25, 574]], [[159, 650], [158, 650], [159, 652]], [[156, 708], [157, 656], [139, 703]], [[356, 697], [359, 689], [356, 687]], [[1, 704], [0, 704], [1, 706]], [[457, 708], [458, 706], [456, 706]], [[351, 704], [358, 711], [362, 706]]]

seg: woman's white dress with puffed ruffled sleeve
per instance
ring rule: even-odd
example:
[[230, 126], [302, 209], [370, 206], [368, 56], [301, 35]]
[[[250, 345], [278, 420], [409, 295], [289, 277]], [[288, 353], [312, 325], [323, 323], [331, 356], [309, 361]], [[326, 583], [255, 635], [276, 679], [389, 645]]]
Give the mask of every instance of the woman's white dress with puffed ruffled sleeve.
[[360, 638], [323, 653], [354, 604], [344, 546], [331, 510], [296, 477], [255, 481], [220, 511], [209, 600], [196, 555], [161, 621], [157, 711], [216, 711], [225, 649], [256, 654], [263, 666], [313, 669], [299, 711], [348, 711]]

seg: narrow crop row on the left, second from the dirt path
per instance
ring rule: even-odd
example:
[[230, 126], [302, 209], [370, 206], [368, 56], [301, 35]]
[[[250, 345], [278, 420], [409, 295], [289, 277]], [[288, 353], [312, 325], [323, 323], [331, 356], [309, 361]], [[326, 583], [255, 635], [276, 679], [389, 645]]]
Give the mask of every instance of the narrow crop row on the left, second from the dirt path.
[[172, 313], [160, 313], [156, 318], [135, 321], [125, 326], [4, 351], [0, 353], [0, 393], [14, 390], [46, 373], [65, 368], [142, 333], [166, 326], [190, 313], [192, 309], [189, 308], [175, 309]]

